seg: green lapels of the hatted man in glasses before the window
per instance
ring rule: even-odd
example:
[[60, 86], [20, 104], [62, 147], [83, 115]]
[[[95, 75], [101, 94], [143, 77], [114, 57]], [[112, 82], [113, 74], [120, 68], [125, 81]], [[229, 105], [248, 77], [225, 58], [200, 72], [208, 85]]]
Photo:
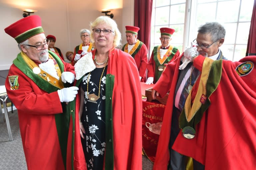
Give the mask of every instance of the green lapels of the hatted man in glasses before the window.
[[155, 63], [156, 63], [156, 64], [155, 64], [155, 77], [154, 77], [154, 81], [155, 81], [155, 82], [157, 82], [157, 81], [159, 80], [160, 76], [161, 76], [162, 73], [163, 73], [163, 72], [161, 72], [161, 71], [158, 70], [158, 66], [160, 66], [160, 65], [164, 66], [164, 64], [169, 63], [169, 62], [172, 60], [173, 56], [174, 56], [174, 55], [177, 53], [177, 51], [178, 51], [178, 49], [177, 49], [176, 47], [173, 47], [173, 48], [172, 48], [172, 51], [171, 51], [171, 54], [167, 57], [167, 59], [164, 61], [163, 64], [160, 64], [159, 61], [158, 61], [158, 59], [157, 59], [157, 47], [158, 47], [158, 46], [154, 47], [154, 49], [153, 49], [154, 61], [155, 61]]

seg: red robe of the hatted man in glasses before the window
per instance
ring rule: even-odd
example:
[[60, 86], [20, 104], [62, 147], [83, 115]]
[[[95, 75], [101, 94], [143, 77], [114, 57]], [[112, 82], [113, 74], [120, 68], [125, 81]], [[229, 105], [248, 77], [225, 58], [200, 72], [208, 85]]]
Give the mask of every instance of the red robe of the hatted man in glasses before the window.
[[[158, 46], [156, 46], [154, 48], [157, 48], [157, 47]], [[172, 59], [169, 62], [167, 62], [167, 63], [164, 62], [164, 64], [171, 63], [172, 61], [174, 61], [176, 58], [178, 58], [180, 56], [180, 52], [179, 52], [179, 50], [176, 47], [174, 47], [174, 50], [177, 50], [177, 52], [174, 55], [173, 54], [169, 55], [168, 58], [172, 57]], [[157, 54], [155, 53], [155, 55], [157, 55]], [[166, 61], [167, 60], [168, 59], [166, 59]], [[154, 51], [152, 51], [152, 54], [151, 54], [150, 59], [148, 61], [147, 70], [148, 70], [147, 78], [153, 77], [154, 78], [153, 83], [155, 84], [157, 81], [155, 80], [155, 77], [156, 77], [156, 75], [155, 75], [155, 72], [156, 72], [156, 62], [154, 60]], [[157, 70], [157, 72], [160, 72], [160, 71]]]

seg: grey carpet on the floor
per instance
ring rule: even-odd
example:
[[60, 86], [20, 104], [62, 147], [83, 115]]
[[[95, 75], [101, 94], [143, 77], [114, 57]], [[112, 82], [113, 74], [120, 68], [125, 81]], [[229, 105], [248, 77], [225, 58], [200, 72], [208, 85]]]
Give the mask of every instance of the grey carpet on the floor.
[[[17, 110], [8, 112], [13, 141], [9, 141], [6, 123], [0, 123], [0, 170], [27, 170], [20, 137]], [[5, 117], [3, 115], [3, 117]], [[142, 156], [142, 170], [152, 170], [153, 163]]]

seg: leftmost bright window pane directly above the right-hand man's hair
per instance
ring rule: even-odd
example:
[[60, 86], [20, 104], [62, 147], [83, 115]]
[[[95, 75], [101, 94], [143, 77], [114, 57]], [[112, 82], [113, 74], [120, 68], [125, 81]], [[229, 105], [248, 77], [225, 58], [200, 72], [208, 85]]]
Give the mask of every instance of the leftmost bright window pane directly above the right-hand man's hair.
[[215, 21], [215, 14], [216, 3], [198, 4], [196, 18], [199, 25]]

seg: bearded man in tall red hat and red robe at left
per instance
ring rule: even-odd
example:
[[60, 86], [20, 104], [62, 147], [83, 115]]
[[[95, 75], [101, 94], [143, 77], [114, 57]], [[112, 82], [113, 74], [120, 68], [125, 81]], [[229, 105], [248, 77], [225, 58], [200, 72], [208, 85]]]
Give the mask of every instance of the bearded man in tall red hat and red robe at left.
[[74, 114], [74, 67], [48, 51], [39, 16], [25, 17], [5, 32], [21, 50], [5, 87], [18, 110], [28, 170], [85, 169], [79, 118]]

